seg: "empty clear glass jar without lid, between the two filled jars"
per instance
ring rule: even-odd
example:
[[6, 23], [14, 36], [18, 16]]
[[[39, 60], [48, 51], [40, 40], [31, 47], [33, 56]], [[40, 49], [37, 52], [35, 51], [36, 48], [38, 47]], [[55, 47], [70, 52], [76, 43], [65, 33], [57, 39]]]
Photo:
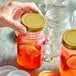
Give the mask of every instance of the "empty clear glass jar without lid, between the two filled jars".
[[49, 10], [46, 13], [47, 38], [50, 48], [54, 51], [54, 56], [60, 55], [60, 43], [63, 33], [71, 28], [69, 14], [62, 10]]

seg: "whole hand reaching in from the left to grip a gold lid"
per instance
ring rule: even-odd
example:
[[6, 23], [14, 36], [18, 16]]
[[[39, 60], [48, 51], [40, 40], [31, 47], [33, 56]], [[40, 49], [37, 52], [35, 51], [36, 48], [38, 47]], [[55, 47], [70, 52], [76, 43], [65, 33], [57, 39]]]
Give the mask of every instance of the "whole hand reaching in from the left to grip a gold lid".
[[21, 18], [24, 12], [34, 12], [41, 14], [41, 11], [33, 2], [20, 3], [12, 2], [4, 6], [0, 6], [0, 27], [10, 27], [21, 34], [26, 32], [25, 26], [16, 20]]

